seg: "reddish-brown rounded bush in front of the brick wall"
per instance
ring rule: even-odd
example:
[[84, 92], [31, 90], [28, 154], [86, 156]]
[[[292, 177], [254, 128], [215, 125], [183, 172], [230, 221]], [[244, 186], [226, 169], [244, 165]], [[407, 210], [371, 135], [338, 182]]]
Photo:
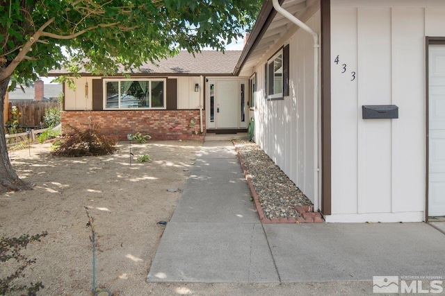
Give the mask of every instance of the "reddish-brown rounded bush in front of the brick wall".
[[62, 139], [51, 153], [56, 156], [81, 157], [113, 154], [118, 140], [102, 133], [99, 125], [90, 125], [90, 128], [81, 130], [72, 128], [72, 132]]

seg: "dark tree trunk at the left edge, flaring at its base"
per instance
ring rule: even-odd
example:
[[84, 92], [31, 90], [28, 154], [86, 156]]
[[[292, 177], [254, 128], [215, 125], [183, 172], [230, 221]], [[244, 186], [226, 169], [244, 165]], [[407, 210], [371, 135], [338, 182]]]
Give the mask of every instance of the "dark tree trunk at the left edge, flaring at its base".
[[9, 78], [0, 82], [0, 193], [32, 189], [31, 184], [20, 180], [11, 166], [8, 148], [6, 147], [5, 128], [3, 127], [3, 109], [5, 96], [8, 92]]

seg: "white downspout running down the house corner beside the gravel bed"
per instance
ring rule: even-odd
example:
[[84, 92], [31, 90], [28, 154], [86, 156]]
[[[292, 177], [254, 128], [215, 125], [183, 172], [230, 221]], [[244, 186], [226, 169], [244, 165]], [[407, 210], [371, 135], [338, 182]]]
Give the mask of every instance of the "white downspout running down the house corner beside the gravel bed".
[[318, 209], [318, 34], [309, 28], [307, 24], [297, 19], [289, 11], [280, 6], [278, 0], [272, 0], [273, 8], [277, 10], [280, 15], [286, 17], [306, 32], [312, 35], [314, 39], [314, 210]]

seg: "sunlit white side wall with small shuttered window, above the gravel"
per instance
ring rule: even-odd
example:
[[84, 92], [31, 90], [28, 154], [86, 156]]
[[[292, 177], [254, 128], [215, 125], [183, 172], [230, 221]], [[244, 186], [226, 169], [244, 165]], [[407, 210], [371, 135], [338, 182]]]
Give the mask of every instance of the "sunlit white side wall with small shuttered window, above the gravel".
[[[320, 33], [320, 12], [306, 23]], [[289, 96], [264, 98], [264, 64], [281, 46], [289, 44]], [[270, 49], [259, 61], [255, 141], [282, 171], [314, 202], [314, 42], [299, 29]]]

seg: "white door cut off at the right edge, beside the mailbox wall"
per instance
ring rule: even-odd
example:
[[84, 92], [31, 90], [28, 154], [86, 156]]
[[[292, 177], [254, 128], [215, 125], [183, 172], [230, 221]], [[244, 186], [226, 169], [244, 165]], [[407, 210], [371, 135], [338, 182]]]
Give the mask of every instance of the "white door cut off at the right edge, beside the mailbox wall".
[[429, 46], [428, 216], [445, 216], [445, 45]]

